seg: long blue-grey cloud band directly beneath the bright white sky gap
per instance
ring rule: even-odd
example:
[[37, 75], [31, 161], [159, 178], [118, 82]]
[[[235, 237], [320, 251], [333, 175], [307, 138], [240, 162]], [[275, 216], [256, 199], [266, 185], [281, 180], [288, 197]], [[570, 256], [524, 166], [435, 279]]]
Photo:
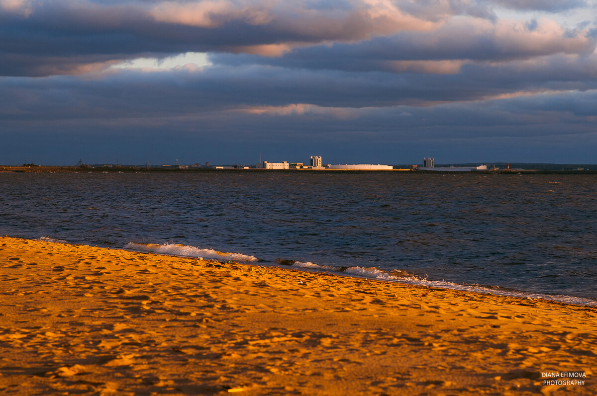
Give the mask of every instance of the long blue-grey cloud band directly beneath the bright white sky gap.
[[[260, 107], [264, 107], [267, 115], [269, 107], [307, 104], [347, 108], [346, 117], [350, 117], [354, 108], [430, 106], [538, 92], [597, 89], [594, 64], [595, 57], [581, 60], [552, 57], [540, 63], [467, 66], [454, 75], [220, 66], [176, 72], [124, 70], [85, 80], [76, 76], [4, 78], [0, 79], [0, 90], [4, 92], [0, 115], [4, 125], [72, 120], [150, 125], [156, 119], [168, 122], [185, 117], [190, 120], [213, 117], [223, 122], [226, 113], [213, 113], [245, 110], [250, 113], [251, 109], [259, 113]], [[490, 73], [492, 78], [488, 79]], [[292, 114], [293, 108], [288, 112]]]

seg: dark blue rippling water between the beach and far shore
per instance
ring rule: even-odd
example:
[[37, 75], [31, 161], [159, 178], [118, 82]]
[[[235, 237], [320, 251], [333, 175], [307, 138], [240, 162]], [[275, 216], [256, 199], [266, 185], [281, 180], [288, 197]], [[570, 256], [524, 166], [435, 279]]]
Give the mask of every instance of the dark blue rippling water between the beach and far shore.
[[0, 233], [180, 243], [597, 299], [597, 176], [0, 174]]

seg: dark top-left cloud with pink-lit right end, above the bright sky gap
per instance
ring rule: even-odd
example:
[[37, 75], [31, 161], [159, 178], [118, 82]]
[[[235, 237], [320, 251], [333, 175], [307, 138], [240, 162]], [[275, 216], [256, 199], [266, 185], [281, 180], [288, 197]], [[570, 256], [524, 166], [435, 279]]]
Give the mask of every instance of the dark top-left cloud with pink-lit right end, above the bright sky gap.
[[4, 6], [0, 12], [0, 75], [79, 74], [89, 70], [85, 64], [97, 68], [110, 60], [190, 51], [278, 55], [296, 44], [358, 41], [403, 29], [433, 29], [435, 21], [454, 12], [450, 7], [427, 8], [419, 18], [389, 2], [383, 7], [358, 1], [340, 1], [340, 7], [321, 5], [4, 0], [0, 1], [0, 7]]

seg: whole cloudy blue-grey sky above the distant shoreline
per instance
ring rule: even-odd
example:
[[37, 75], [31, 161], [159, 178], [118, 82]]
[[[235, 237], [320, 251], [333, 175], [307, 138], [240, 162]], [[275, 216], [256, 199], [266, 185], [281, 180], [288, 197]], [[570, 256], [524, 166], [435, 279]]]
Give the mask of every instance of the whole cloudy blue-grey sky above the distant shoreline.
[[0, 163], [597, 163], [597, 0], [0, 0]]

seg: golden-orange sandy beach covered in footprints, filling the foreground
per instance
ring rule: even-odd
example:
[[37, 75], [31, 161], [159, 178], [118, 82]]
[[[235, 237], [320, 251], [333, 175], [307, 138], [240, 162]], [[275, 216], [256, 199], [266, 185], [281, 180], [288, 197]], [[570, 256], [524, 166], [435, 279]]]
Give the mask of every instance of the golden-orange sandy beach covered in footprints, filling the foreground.
[[0, 245], [0, 394], [597, 394], [595, 308]]

